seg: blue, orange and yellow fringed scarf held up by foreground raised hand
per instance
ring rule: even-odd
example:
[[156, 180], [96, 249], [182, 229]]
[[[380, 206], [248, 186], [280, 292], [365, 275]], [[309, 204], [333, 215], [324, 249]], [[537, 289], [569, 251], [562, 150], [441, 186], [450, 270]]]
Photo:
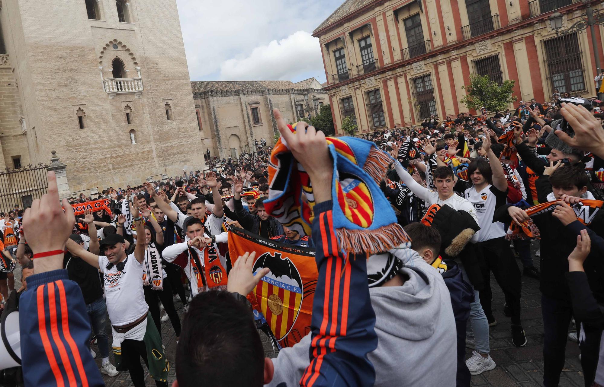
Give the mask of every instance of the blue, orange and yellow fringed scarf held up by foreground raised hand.
[[[289, 126], [289, 129], [295, 132], [295, 127]], [[339, 249], [370, 256], [408, 242], [378, 185], [393, 162], [391, 157], [377, 149], [373, 142], [356, 137], [327, 137], [326, 140], [333, 160], [333, 228]], [[266, 212], [284, 226], [298, 231], [300, 236], [309, 235], [315, 205], [312, 181], [292, 156], [283, 137], [271, 153], [268, 168]]]

